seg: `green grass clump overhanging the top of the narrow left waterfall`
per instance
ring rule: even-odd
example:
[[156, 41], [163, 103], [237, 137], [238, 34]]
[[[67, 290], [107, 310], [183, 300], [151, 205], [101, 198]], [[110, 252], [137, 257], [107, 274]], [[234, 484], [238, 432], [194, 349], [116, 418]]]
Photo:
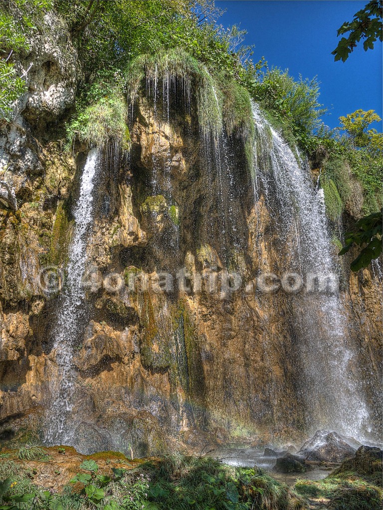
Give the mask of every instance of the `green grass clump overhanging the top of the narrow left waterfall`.
[[80, 111], [67, 126], [68, 145], [78, 139], [88, 146], [103, 148], [115, 143], [129, 149], [130, 134], [126, 124], [127, 104], [121, 94], [111, 93]]

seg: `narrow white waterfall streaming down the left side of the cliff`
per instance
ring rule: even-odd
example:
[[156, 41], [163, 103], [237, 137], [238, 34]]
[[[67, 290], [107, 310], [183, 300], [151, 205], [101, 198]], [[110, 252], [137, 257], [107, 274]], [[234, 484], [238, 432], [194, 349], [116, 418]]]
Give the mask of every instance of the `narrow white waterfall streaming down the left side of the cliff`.
[[72, 368], [74, 341], [86, 319], [86, 303], [82, 277], [85, 272], [87, 237], [93, 219], [93, 188], [100, 166], [97, 148], [89, 151], [81, 177], [80, 195], [73, 211], [75, 229], [68, 250], [66, 282], [59, 297], [54, 345], [59, 367], [58, 388], [54, 388], [54, 399], [50, 409], [49, 424], [45, 432], [45, 443], [72, 444], [69, 415], [73, 408], [75, 373]]

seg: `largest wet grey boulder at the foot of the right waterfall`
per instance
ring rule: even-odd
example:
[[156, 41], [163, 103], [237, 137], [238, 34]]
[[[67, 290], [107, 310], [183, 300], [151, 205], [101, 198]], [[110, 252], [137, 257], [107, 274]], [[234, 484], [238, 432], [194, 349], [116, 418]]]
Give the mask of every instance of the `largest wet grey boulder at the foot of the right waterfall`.
[[347, 444], [337, 432], [318, 430], [312, 439], [304, 443], [298, 455], [307, 461], [343, 462], [355, 455], [355, 448]]

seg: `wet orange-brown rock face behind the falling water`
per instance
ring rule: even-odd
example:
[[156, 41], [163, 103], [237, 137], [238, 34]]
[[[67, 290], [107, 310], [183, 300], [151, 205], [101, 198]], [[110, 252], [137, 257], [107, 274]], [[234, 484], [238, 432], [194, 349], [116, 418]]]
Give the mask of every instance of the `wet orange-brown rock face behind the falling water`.
[[[4, 442], [42, 440], [49, 426], [60, 379], [52, 328], [86, 159], [81, 147], [75, 157], [62, 149], [81, 77], [76, 48], [63, 20], [46, 22], [52, 40], [36, 38], [20, 58], [23, 69], [33, 62], [29, 90], [0, 126], [0, 158], [10, 164], [5, 178], [18, 205], [0, 209]], [[103, 155], [87, 246], [87, 314], [70, 339], [73, 443], [82, 452], [201, 451], [244, 437], [283, 445], [314, 432], [296, 385], [299, 336], [288, 296], [257, 286], [260, 272], [282, 267], [277, 221], [264, 196], [254, 203], [241, 135], [225, 141], [230, 162], [220, 173], [193, 104], [185, 112], [172, 104], [170, 120], [160, 119], [143, 94], [129, 126], [129, 159], [114, 148]], [[50, 129], [56, 122], [58, 130]], [[365, 374], [378, 424], [378, 277], [372, 269], [350, 275], [346, 263], [342, 274], [350, 342], [358, 346], [344, 370]], [[56, 290], [47, 292], [52, 282]], [[29, 420], [34, 411], [38, 419]], [[331, 433], [325, 446], [309, 446], [307, 455], [321, 460], [352, 450]]]

